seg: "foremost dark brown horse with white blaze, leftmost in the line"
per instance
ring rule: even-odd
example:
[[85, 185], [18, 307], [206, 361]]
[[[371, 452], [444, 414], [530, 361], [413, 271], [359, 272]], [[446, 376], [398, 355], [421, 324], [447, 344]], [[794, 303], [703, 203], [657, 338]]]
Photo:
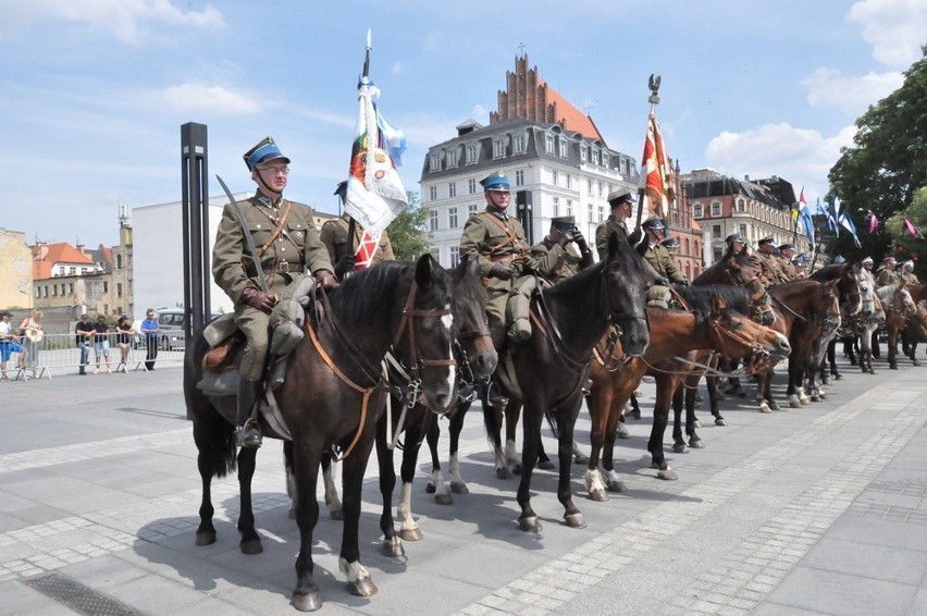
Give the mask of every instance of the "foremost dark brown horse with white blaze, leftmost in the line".
[[[307, 315], [306, 336], [288, 358], [286, 378], [275, 398], [293, 442], [293, 468], [298, 485], [296, 521], [299, 527], [297, 582], [293, 604], [299, 611], [322, 605], [313, 578], [312, 533], [319, 518], [316, 484], [322, 455], [333, 446], [344, 460], [344, 529], [338, 568], [347, 577], [349, 592], [370, 596], [378, 592], [360, 563], [358, 526], [363, 472], [373, 446], [375, 414], [384, 404], [387, 387], [380, 362], [392, 348], [410, 386], [420, 389], [436, 410], [453, 402], [455, 365], [453, 342], [457, 335], [450, 306], [449, 275], [430, 255], [416, 263], [384, 262], [356, 273], [330, 294], [320, 296]], [[184, 357], [184, 395], [193, 418], [197, 466], [202, 479], [197, 545], [215, 542], [212, 523], [211, 481], [236, 466], [234, 397], [210, 397], [197, 389], [208, 343], [202, 335], [187, 346]], [[374, 417], [370, 417], [371, 412]], [[261, 417], [262, 431], [283, 438]], [[277, 423], [277, 428], [280, 424]], [[262, 551], [255, 530], [250, 482], [256, 449], [243, 447], [237, 455], [240, 513], [240, 550]]]

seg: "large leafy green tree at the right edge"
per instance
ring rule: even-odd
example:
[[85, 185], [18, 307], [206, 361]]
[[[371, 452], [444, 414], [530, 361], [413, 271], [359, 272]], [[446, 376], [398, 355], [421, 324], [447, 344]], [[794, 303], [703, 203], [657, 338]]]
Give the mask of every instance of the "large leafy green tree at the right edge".
[[[856, 120], [854, 146], [843, 148], [828, 174], [828, 200], [839, 198], [841, 209], [853, 218], [866, 255], [883, 255], [899, 241], [891, 229], [865, 233], [868, 211], [885, 221], [910, 206], [917, 189], [927, 185], [927, 46], [922, 53], [904, 73], [904, 84]], [[833, 251], [858, 254], [843, 233]]]

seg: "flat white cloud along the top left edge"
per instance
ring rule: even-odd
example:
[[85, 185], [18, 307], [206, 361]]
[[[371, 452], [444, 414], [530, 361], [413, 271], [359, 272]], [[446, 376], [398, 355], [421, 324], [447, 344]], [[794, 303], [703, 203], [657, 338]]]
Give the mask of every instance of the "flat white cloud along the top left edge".
[[[62, 20], [109, 32], [123, 42], [137, 44], [154, 25], [222, 27], [222, 13], [212, 4], [183, 11], [170, 0], [33, 0], [11, 3], [9, 23]], [[7, 9], [4, 8], [4, 13]]]

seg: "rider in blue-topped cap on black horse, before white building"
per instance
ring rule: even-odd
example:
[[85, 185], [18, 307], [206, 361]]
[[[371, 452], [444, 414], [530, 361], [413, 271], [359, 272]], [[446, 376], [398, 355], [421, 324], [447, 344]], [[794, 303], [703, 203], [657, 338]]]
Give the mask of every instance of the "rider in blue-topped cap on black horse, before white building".
[[[537, 262], [531, 256], [524, 229], [517, 218], [508, 213], [511, 182], [502, 173], [494, 173], [480, 184], [486, 209], [467, 219], [460, 236], [460, 257], [469, 255], [480, 263], [489, 294], [486, 317], [490, 334], [498, 352], [506, 341], [505, 316], [509, 293], [520, 276], [536, 269]], [[487, 402], [493, 406], [505, 403], [505, 398], [496, 392], [495, 387], [487, 387]]]

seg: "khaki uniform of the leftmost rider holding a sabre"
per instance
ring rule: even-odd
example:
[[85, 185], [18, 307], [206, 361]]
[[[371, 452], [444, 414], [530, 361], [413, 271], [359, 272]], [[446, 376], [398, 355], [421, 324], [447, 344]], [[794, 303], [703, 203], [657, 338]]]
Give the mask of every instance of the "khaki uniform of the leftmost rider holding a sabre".
[[[277, 296], [309, 268], [334, 271], [329, 252], [319, 239], [312, 222], [312, 209], [287, 199], [271, 204], [259, 194], [238, 201], [248, 232], [260, 254], [268, 291]], [[288, 212], [287, 212], [288, 210]], [[283, 217], [286, 220], [281, 224]], [[277, 231], [279, 230], [279, 231]], [[270, 316], [244, 303], [247, 287], [260, 288], [254, 259], [248, 254], [242, 223], [232, 204], [222, 210], [222, 220], [212, 249], [212, 276], [235, 304], [235, 323], [248, 336], [249, 344], [239, 367], [242, 378], [261, 379], [268, 348]]]

